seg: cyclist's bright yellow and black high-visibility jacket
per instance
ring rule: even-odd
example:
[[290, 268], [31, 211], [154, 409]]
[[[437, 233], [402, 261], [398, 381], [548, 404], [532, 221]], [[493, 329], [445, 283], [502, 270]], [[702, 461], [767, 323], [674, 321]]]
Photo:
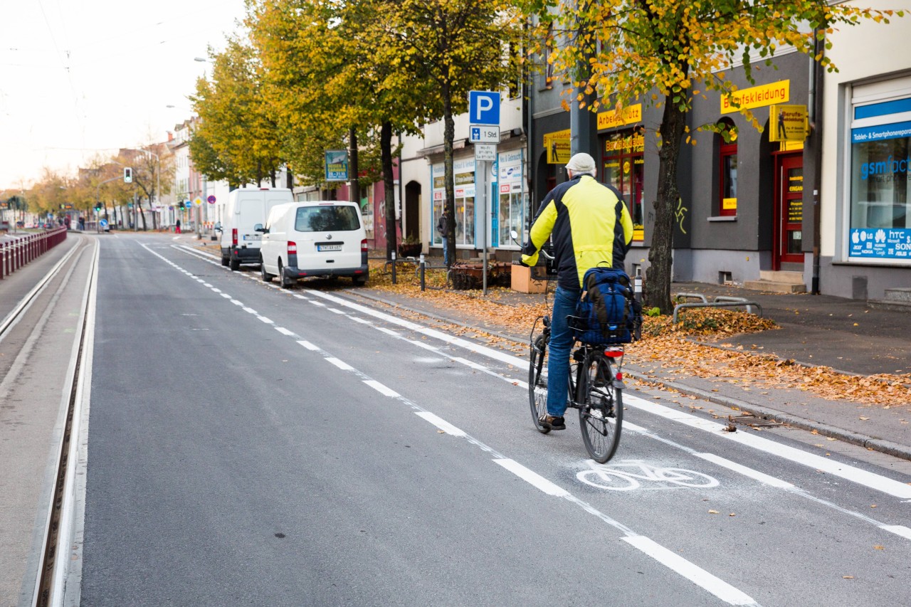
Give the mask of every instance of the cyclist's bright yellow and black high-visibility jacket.
[[557, 283], [578, 291], [589, 268], [622, 268], [632, 242], [630, 211], [616, 188], [580, 175], [550, 190], [522, 247], [522, 262], [537, 263], [537, 252], [554, 240]]

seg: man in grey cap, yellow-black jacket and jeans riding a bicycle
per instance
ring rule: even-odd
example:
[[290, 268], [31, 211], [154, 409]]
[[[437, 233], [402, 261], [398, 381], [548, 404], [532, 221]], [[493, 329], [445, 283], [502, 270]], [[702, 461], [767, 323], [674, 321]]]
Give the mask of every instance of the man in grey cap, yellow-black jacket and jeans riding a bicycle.
[[616, 188], [595, 180], [595, 159], [584, 152], [566, 166], [568, 181], [548, 192], [522, 247], [522, 263], [535, 265], [537, 252], [553, 235], [557, 291], [550, 326], [548, 413], [554, 430], [566, 429], [569, 351], [574, 342], [567, 316], [576, 314], [582, 277], [603, 262], [622, 268], [632, 241], [632, 219]]

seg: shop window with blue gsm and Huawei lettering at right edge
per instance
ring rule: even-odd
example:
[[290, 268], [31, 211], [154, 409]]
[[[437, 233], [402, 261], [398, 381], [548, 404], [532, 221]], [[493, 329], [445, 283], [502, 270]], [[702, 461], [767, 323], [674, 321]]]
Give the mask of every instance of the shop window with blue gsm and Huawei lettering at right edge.
[[849, 256], [908, 261], [911, 97], [855, 103], [852, 111]]

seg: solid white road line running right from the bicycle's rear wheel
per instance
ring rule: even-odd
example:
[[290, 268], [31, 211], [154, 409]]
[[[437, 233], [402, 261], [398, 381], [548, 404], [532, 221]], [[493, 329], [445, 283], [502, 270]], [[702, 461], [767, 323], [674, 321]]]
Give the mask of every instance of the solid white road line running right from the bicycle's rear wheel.
[[747, 447], [770, 453], [779, 458], [793, 461], [794, 463], [822, 470], [837, 477], [845, 478], [858, 485], [864, 485], [870, 489], [882, 491], [896, 498], [911, 498], [911, 485], [906, 485], [891, 478], [885, 478], [873, 472], [867, 472], [861, 468], [855, 468], [848, 464], [842, 464], [832, 459], [822, 458], [801, 449], [788, 447], [777, 443], [768, 438], [757, 437], [746, 432], [722, 432], [724, 426], [709, 419], [693, 416], [683, 411], [677, 411], [667, 406], [656, 405], [639, 396], [625, 395], [623, 404], [634, 406], [641, 411], [647, 411], [665, 419], [671, 419], [680, 422], [689, 427], [695, 427], [700, 430], [711, 433], [714, 436], [726, 438], [735, 443], [740, 443]]

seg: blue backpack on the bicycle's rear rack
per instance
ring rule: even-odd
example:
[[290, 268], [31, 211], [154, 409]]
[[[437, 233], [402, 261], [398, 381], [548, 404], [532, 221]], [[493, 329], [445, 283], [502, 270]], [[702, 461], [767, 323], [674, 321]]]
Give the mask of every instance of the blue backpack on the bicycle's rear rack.
[[594, 267], [582, 277], [582, 285], [585, 292], [572, 323], [576, 339], [590, 345], [629, 344], [635, 314], [627, 273]]

